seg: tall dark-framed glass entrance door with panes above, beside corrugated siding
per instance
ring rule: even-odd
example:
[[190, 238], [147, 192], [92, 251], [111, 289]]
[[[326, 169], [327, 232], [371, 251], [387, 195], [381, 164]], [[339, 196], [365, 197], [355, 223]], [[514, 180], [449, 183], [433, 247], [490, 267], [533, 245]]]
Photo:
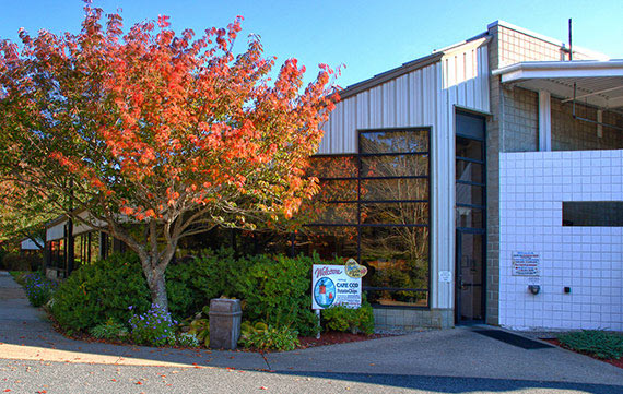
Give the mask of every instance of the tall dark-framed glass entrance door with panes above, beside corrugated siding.
[[484, 322], [486, 176], [484, 117], [456, 114], [455, 324]]

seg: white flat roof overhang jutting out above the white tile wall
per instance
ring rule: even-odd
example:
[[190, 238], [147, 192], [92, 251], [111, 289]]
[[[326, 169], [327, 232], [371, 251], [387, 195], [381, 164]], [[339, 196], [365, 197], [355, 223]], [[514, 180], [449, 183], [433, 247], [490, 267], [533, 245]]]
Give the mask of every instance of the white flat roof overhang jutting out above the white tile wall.
[[[494, 70], [503, 84], [545, 91], [603, 109], [623, 109], [623, 60], [529, 61]], [[574, 93], [575, 86], [575, 93]]]

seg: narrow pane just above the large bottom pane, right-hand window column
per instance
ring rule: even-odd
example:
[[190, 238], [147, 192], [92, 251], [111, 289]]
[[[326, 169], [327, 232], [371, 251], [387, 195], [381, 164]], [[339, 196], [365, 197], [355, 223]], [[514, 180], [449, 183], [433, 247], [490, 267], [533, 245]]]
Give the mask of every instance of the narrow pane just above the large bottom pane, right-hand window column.
[[361, 223], [366, 225], [427, 225], [428, 203], [362, 204]]

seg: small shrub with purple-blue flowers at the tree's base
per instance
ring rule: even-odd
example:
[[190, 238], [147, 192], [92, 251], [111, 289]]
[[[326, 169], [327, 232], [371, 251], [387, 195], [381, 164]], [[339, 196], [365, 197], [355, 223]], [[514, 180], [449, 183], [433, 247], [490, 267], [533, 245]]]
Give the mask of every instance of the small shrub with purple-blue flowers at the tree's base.
[[144, 314], [133, 314], [128, 323], [132, 330], [132, 338], [139, 344], [175, 345], [175, 324], [177, 323], [171, 319], [171, 313], [155, 303], [152, 303]]

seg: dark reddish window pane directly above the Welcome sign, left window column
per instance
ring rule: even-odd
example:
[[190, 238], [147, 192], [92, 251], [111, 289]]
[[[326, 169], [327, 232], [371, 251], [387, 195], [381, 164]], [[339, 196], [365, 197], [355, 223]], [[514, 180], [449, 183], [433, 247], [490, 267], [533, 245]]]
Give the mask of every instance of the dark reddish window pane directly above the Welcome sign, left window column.
[[297, 234], [296, 253], [312, 255], [318, 253], [322, 260], [356, 259], [357, 228], [348, 226], [308, 226], [304, 232]]

